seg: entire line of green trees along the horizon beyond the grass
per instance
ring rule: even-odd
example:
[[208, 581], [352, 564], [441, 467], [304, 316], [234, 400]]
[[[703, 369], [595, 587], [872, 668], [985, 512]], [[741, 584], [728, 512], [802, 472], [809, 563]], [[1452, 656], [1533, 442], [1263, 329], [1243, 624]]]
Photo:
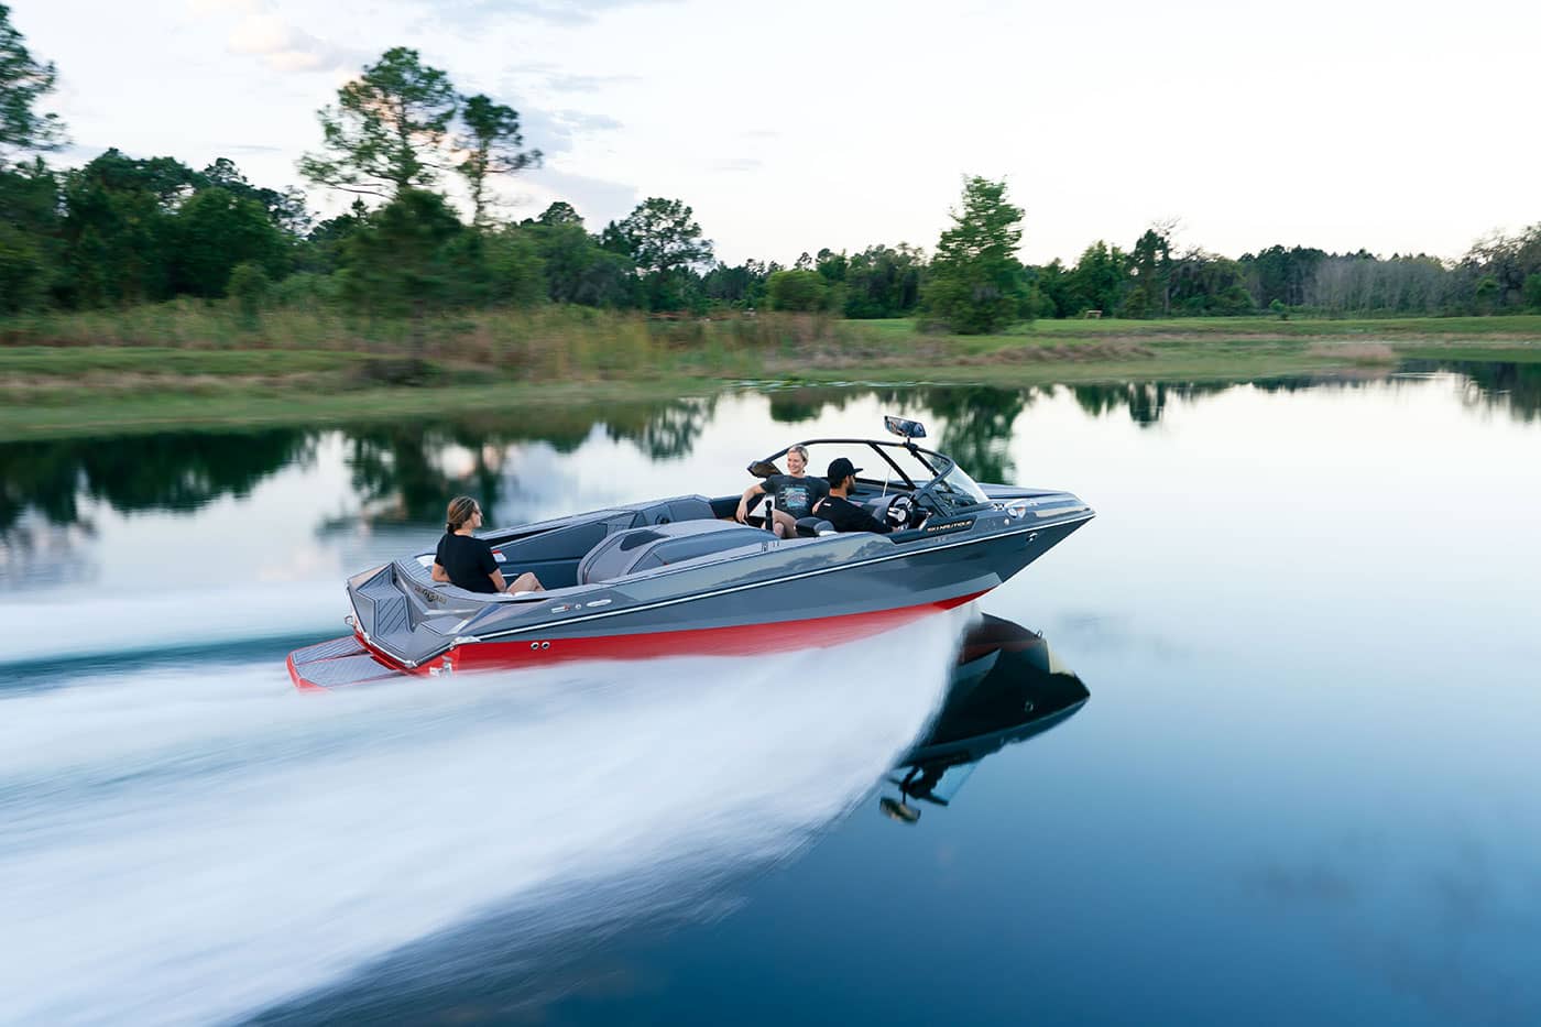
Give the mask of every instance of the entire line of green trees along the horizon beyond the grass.
[[[40, 105], [55, 68], [0, 5], [0, 313], [112, 308], [177, 296], [271, 307], [336, 304], [421, 321], [455, 308], [541, 302], [707, 313], [915, 316], [954, 332], [1014, 321], [1207, 315], [1472, 315], [1541, 310], [1541, 224], [1481, 239], [1456, 261], [1274, 245], [1230, 259], [1179, 248], [1157, 224], [1128, 248], [1097, 241], [1066, 264], [1017, 259], [1022, 208], [1005, 182], [969, 177], [932, 253], [908, 244], [820, 248], [791, 265], [718, 261], [680, 199], [644, 199], [590, 230], [572, 205], [505, 219], [499, 177], [538, 167], [519, 116], [456, 91], [408, 48], [388, 49], [317, 113], [307, 182], [353, 194], [316, 217], [297, 188], [250, 182], [228, 160], [108, 150], [55, 168], [63, 126]], [[462, 214], [448, 184], [459, 184]]]

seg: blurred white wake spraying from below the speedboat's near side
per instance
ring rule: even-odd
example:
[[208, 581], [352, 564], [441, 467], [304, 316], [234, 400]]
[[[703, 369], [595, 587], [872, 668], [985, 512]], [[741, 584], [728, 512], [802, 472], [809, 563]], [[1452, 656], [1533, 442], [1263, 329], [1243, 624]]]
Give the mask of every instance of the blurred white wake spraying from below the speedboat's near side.
[[0, 692], [0, 1019], [242, 1018], [512, 908], [533, 951], [704, 902], [860, 800], [963, 615], [327, 695], [277, 662]]

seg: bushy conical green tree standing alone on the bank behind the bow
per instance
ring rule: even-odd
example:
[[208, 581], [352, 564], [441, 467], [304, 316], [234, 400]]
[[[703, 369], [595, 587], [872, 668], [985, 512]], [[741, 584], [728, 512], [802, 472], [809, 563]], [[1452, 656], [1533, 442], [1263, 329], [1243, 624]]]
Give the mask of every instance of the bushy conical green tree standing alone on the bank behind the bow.
[[954, 332], [999, 332], [1020, 316], [1022, 208], [1006, 200], [1005, 182], [974, 176], [952, 222], [937, 244], [922, 304]]

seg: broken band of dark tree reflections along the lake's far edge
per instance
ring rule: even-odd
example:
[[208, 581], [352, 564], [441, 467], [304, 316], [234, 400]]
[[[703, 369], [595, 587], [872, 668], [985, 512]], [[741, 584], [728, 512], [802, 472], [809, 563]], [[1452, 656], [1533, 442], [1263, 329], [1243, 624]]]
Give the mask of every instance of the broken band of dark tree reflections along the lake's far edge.
[[[1515, 418], [1541, 419], [1541, 364], [1510, 361], [1405, 361], [1402, 372], [1465, 376], [1465, 401], [1507, 409]], [[934, 447], [954, 456], [983, 481], [1009, 481], [1008, 455], [1017, 416], [1039, 395], [1066, 389], [1091, 416], [1120, 410], [1140, 426], [1159, 423], [1173, 399], [1197, 399], [1250, 384], [1261, 392], [1359, 389], [1381, 381], [1355, 376], [1265, 378], [1251, 382], [1110, 382], [995, 389], [928, 386], [889, 389], [807, 387], [769, 393], [772, 419], [817, 421], [828, 409], [875, 396], [885, 410], [931, 419]], [[1390, 379], [1390, 387], [1412, 387]], [[499, 510], [505, 484], [505, 450], [541, 441], [575, 452], [598, 426], [610, 439], [635, 443], [650, 460], [687, 456], [717, 415], [717, 398], [683, 398], [607, 406], [542, 407], [467, 415], [455, 419], [401, 421], [345, 429], [348, 466], [368, 515], [387, 521], [438, 523], [452, 495], [481, 498], [490, 523], [512, 523], [518, 510]], [[874, 435], [878, 433], [874, 426]], [[120, 512], [194, 510], [222, 495], [243, 497], [284, 467], [314, 455], [313, 429], [257, 432], [174, 432], [128, 438], [28, 441], [0, 444], [0, 544], [25, 544], [20, 527], [32, 512], [40, 524], [82, 520], [83, 500], [102, 500]], [[470, 464], [445, 466], [452, 447]], [[373, 509], [370, 509], [373, 507]]]

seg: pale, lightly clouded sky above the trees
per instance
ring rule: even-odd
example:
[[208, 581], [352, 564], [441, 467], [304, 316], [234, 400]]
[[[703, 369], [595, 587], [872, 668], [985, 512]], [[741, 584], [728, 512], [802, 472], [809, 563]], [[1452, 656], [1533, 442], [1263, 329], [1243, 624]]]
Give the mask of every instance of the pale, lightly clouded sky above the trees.
[[[1541, 222], [1541, 5], [1422, 0], [9, 0], [60, 163], [108, 146], [304, 185], [316, 111], [390, 46], [519, 111], [590, 230], [681, 199], [717, 256], [935, 247], [963, 177], [1006, 179], [1022, 258], [1273, 244], [1456, 258]], [[311, 190], [336, 213], [341, 194]]]

